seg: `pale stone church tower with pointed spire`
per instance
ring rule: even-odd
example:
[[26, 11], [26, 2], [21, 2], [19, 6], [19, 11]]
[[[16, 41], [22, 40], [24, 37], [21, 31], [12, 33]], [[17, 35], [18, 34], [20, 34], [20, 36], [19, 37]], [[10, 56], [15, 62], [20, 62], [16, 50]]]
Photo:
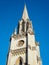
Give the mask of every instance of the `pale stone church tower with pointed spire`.
[[26, 5], [18, 30], [10, 38], [10, 49], [6, 65], [42, 65], [39, 43], [35, 40], [32, 22], [29, 19]]

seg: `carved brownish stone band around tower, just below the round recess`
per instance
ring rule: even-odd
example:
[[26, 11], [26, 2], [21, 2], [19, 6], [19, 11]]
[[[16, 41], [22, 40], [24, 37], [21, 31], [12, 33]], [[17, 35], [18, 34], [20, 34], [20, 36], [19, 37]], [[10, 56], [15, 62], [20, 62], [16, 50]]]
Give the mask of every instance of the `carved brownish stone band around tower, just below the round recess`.
[[[35, 47], [32, 47], [31, 48], [31, 46], [28, 46], [28, 48], [30, 49], [30, 50], [36, 50], [36, 48]], [[10, 50], [10, 52], [12, 53], [12, 55], [19, 55], [19, 54], [24, 54], [24, 53], [26, 53], [26, 47], [25, 48], [20, 48], [20, 49], [17, 49], [17, 50]]]

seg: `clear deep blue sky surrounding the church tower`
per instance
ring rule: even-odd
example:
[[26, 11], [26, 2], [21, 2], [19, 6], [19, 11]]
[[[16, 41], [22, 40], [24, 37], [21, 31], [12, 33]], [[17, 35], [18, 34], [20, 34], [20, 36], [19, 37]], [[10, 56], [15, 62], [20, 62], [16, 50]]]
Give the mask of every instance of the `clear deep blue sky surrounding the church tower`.
[[6, 65], [10, 36], [26, 3], [43, 65], [49, 65], [49, 0], [0, 0], [0, 65]]

